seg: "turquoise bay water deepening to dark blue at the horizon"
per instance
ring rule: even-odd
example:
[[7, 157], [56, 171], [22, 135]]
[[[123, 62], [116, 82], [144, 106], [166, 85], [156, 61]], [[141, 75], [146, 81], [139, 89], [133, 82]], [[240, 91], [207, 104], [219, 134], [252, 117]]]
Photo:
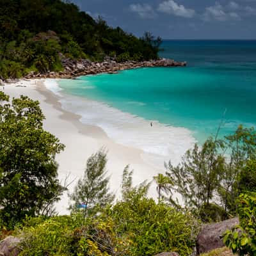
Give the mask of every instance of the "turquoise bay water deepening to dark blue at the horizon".
[[60, 81], [67, 93], [186, 127], [202, 142], [237, 125], [256, 124], [255, 41], [168, 41], [161, 55], [188, 61], [185, 68], [140, 68]]

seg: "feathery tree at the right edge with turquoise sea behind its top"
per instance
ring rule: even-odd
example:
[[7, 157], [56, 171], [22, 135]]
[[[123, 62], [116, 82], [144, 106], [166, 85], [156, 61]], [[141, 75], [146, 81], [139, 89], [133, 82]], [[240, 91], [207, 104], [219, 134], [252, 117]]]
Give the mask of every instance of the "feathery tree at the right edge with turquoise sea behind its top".
[[255, 129], [239, 125], [234, 134], [225, 137], [225, 147], [229, 157], [218, 193], [225, 211], [234, 215], [237, 213], [237, 198], [248, 187], [249, 179], [246, 177], [253, 176], [253, 172], [255, 173], [253, 162], [250, 162], [256, 159]]

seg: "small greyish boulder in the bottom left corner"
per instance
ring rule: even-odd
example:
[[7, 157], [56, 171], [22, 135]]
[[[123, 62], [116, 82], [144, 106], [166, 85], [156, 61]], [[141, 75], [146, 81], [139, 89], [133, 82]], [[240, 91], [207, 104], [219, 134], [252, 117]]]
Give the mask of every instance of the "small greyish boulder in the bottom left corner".
[[8, 236], [0, 242], [0, 256], [17, 256], [19, 255], [20, 239], [14, 236]]

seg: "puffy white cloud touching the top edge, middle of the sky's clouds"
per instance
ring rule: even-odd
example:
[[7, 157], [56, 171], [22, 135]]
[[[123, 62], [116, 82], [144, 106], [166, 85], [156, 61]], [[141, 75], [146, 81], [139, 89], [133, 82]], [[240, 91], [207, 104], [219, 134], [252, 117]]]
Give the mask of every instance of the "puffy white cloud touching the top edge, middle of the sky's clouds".
[[160, 3], [157, 10], [159, 12], [173, 14], [184, 18], [192, 18], [195, 15], [195, 10], [185, 8], [184, 5], [179, 5], [173, 0], [167, 0]]

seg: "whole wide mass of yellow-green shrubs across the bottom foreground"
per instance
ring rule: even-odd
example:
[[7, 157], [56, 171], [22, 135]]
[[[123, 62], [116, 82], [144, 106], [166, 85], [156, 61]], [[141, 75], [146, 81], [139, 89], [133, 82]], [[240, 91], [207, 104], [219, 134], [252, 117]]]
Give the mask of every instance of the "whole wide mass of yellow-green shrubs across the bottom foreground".
[[123, 177], [123, 200], [100, 214], [26, 220], [17, 230], [24, 238], [21, 255], [189, 255], [200, 228], [195, 218], [147, 198], [148, 184], [133, 187], [127, 168]]

